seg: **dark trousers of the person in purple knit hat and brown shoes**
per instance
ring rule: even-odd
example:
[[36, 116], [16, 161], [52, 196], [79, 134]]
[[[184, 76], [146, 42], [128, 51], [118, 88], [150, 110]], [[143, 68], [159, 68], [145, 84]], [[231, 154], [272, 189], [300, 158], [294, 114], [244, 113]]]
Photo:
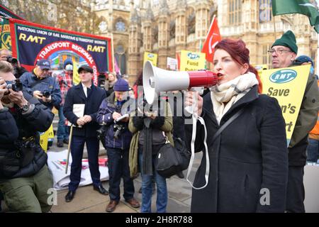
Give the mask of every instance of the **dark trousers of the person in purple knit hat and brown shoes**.
[[130, 167], [128, 166], [128, 150], [120, 148], [107, 148], [108, 152], [108, 182], [110, 187], [108, 192], [110, 199], [119, 201], [121, 198], [120, 183], [123, 178], [125, 200], [134, 196], [133, 179], [130, 178]]

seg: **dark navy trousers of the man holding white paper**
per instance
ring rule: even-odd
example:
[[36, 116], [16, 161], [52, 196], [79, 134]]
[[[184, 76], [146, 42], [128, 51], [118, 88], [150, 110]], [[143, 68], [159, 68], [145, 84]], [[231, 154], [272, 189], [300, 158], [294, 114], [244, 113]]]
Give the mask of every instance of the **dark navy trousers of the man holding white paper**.
[[101, 185], [100, 171], [99, 171], [99, 140], [95, 137], [85, 138], [81, 136], [72, 136], [71, 142], [71, 175], [69, 179], [69, 191], [75, 191], [79, 187], [82, 171], [82, 157], [84, 150], [84, 143], [86, 143], [87, 154], [89, 157], [89, 169], [91, 179], [95, 187]]

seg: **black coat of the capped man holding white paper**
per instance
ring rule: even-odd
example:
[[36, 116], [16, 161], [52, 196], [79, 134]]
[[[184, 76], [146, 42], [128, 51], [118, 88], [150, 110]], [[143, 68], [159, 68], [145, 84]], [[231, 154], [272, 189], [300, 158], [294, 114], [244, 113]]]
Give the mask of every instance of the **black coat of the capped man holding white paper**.
[[89, 115], [92, 118], [91, 122], [86, 123], [81, 128], [74, 127], [73, 135], [87, 138], [96, 137], [96, 130], [99, 129], [99, 123], [96, 122], [96, 115], [99, 111], [101, 102], [105, 98], [105, 91], [93, 84], [91, 86], [91, 93], [87, 98], [81, 83], [69, 89], [63, 108], [63, 114], [65, 114], [67, 120], [77, 126], [77, 119], [79, 118], [73, 113], [73, 104], [85, 104], [84, 115]]

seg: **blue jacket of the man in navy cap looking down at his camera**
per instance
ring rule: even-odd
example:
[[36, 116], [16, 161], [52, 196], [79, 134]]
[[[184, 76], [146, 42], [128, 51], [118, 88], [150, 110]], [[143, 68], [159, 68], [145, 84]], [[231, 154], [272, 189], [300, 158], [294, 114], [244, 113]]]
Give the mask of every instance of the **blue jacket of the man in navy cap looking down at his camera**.
[[50, 92], [52, 101], [44, 102], [39, 99], [40, 103], [50, 109], [52, 109], [53, 106], [59, 108], [62, 101], [61, 90], [54, 77], [38, 79], [33, 72], [25, 72], [20, 77], [20, 82], [23, 84], [23, 91], [28, 92], [32, 96], [34, 91]]

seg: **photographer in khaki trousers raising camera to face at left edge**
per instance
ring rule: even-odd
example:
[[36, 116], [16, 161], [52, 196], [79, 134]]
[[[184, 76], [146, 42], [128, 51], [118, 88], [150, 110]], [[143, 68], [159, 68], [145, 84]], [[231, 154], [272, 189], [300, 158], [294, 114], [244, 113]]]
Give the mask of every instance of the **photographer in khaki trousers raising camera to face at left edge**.
[[52, 178], [38, 131], [50, 127], [50, 109], [18, 91], [13, 67], [0, 62], [0, 191], [13, 212], [48, 212]]

